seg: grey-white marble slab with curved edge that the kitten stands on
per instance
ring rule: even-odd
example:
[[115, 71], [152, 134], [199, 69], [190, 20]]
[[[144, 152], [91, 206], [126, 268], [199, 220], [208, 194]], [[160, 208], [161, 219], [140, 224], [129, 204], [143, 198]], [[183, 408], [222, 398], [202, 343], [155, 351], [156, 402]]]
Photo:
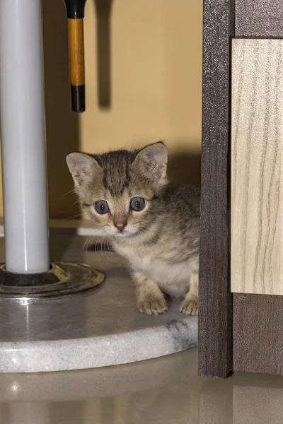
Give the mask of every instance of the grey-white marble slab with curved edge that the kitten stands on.
[[[111, 252], [86, 251], [91, 241], [52, 234], [51, 259], [105, 271], [96, 290], [25, 305], [0, 301], [0, 372], [104, 367], [197, 346], [197, 317], [180, 314], [176, 300], [169, 300], [168, 312], [158, 317], [138, 312], [125, 263]], [[0, 247], [3, 254], [3, 239]]]

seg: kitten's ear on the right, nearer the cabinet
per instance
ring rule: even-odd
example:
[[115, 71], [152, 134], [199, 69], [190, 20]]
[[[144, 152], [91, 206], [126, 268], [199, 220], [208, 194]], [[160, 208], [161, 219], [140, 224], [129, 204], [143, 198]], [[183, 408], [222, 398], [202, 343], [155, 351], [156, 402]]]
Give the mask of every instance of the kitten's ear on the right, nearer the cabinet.
[[166, 178], [167, 162], [168, 151], [162, 141], [144, 147], [134, 160], [146, 177], [155, 180]]

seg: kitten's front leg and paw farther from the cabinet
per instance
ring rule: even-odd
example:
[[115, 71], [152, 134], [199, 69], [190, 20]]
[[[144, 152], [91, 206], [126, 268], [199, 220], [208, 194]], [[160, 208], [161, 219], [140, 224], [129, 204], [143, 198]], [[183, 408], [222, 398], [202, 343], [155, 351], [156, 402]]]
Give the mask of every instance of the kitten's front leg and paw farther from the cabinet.
[[158, 285], [138, 272], [134, 272], [132, 278], [136, 285], [139, 312], [144, 312], [148, 315], [158, 315], [166, 312], [166, 300]]

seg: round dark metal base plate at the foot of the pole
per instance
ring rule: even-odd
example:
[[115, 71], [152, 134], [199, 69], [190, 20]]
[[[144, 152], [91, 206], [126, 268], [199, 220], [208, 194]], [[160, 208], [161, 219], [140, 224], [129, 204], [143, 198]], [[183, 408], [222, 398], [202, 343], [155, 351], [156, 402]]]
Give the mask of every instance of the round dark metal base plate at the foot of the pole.
[[0, 300], [46, 300], [89, 290], [100, 285], [105, 274], [93, 266], [53, 262], [44, 273], [16, 274], [0, 264]]

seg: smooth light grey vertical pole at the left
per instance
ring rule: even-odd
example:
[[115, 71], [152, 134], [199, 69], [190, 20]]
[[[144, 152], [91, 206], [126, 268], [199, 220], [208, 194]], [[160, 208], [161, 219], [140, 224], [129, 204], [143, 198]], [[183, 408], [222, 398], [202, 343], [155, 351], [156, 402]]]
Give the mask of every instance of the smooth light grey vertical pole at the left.
[[0, 0], [6, 269], [49, 269], [40, 0]]

